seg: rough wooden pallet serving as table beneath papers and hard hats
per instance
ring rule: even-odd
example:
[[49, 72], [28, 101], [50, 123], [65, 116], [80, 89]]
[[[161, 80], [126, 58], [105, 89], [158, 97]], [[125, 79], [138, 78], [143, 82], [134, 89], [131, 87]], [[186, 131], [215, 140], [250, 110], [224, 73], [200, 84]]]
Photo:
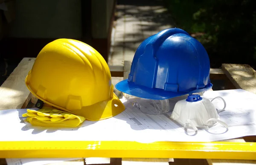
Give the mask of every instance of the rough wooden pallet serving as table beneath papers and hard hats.
[[[35, 58], [23, 58], [9, 78], [0, 87], [0, 110], [33, 107], [32, 95], [25, 86], [25, 77], [34, 64]], [[124, 66], [110, 66], [113, 77], [128, 78], [131, 61], [124, 61]], [[221, 69], [210, 70], [211, 80], [223, 81], [225, 89], [241, 88], [256, 93], [256, 71], [248, 65], [223, 64]], [[225, 140], [230, 142], [256, 142], [256, 136]], [[98, 159], [101, 161], [100, 159]], [[94, 159], [97, 164], [97, 159]], [[225, 165], [225, 164], [256, 164], [253, 160], [224, 160], [224, 159], [120, 159], [111, 158], [111, 165], [137, 165], [148, 162], [169, 162], [171, 165]], [[61, 165], [84, 165], [84, 159], [58, 163]], [[5, 159], [0, 159], [0, 165], [6, 165]]]

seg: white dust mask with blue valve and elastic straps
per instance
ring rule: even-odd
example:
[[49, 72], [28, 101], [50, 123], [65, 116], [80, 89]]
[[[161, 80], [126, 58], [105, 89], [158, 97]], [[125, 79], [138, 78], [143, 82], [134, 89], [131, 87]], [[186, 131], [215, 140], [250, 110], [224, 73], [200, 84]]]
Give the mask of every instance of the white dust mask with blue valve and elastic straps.
[[198, 128], [208, 129], [218, 123], [224, 127], [228, 127], [226, 123], [222, 122], [218, 113], [224, 111], [226, 108], [226, 102], [224, 102], [224, 108], [217, 110], [212, 101], [207, 98], [201, 98], [199, 95], [190, 95], [187, 99], [177, 101], [173, 109], [171, 118], [180, 123], [185, 128], [192, 128], [195, 131]]

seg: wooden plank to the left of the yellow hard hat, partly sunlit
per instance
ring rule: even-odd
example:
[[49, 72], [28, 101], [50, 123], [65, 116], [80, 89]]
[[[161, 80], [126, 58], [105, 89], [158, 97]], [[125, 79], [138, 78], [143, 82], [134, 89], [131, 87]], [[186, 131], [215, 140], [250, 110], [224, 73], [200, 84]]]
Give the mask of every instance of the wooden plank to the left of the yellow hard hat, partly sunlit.
[[0, 87], [0, 110], [20, 109], [29, 103], [31, 94], [25, 85], [25, 78], [35, 58], [23, 58]]

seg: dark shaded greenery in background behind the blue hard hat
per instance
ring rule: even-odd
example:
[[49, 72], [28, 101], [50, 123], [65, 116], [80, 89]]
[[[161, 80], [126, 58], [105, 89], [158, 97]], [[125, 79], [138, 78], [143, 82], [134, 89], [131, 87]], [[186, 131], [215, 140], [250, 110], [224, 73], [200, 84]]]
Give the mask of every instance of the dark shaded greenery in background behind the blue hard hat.
[[256, 0], [165, 0], [177, 27], [207, 49], [212, 68], [256, 67]]

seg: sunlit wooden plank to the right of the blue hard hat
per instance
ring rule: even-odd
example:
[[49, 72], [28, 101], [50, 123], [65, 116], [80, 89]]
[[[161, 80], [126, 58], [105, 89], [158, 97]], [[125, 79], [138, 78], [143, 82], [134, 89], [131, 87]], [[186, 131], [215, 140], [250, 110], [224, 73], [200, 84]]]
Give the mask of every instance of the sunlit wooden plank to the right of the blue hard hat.
[[256, 94], [256, 71], [246, 64], [222, 64], [222, 70], [236, 88]]

